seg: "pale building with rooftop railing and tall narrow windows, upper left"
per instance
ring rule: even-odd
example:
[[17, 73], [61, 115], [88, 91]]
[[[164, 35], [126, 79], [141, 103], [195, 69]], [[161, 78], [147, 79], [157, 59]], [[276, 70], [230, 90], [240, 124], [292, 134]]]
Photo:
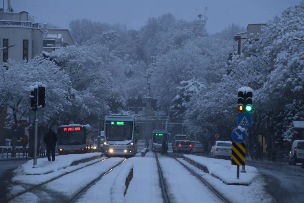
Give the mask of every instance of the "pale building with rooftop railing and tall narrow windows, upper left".
[[43, 31], [28, 12], [0, 12], [0, 65], [9, 58], [29, 60], [42, 54]]

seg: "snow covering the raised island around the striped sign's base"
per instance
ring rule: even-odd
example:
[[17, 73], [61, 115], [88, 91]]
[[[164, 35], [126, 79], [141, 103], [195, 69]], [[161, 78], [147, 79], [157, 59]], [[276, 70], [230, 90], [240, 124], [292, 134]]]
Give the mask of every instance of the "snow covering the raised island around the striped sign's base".
[[255, 167], [246, 166], [245, 169], [247, 173], [240, 173], [240, 179], [237, 179], [237, 166], [231, 165], [230, 160], [213, 159], [193, 155], [184, 155], [184, 157], [206, 166], [209, 174], [219, 177], [226, 184], [250, 184], [252, 180], [259, 175]]

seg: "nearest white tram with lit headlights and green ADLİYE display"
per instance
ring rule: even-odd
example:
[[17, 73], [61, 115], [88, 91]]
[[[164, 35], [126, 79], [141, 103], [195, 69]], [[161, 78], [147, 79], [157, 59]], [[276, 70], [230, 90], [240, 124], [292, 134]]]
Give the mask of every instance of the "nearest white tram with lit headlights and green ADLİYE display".
[[129, 115], [105, 116], [103, 153], [111, 156], [134, 156], [137, 152], [136, 119]]

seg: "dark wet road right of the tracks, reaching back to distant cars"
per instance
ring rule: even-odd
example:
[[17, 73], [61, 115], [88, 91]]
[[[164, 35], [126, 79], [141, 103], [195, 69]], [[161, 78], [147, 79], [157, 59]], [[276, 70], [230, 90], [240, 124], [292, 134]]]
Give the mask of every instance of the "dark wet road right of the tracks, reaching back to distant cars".
[[[194, 155], [206, 156], [203, 154]], [[183, 155], [168, 153], [168, 156], [182, 157]], [[304, 169], [301, 166], [251, 159], [246, 159], [246, 165], [256, 167], [263, 175], [267, 186], [261, 189], [271, 194], [277, 203], [304, 202]]]

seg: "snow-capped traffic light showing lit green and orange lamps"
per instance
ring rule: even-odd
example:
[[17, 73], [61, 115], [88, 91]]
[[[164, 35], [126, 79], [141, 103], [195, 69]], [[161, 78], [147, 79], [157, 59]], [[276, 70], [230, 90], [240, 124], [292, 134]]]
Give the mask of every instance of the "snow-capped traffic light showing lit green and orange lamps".
[[237, 93], [237, 109], [240, 112], [243, 112], [245, 110], [249, 113], [252, 111], [252, 92], [253, 89], [251, 89], [250, 87], [239, 88]]

